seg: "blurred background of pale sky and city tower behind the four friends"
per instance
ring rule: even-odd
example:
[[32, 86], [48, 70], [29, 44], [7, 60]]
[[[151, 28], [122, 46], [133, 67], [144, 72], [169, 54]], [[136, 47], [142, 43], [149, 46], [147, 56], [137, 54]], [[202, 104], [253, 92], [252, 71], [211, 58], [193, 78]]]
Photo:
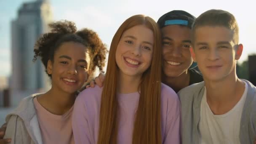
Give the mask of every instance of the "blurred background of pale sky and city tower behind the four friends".
[[35, 41], [48, 32], [48, 23], [74, 21], [78, 29], [96, 31], [109, 47], [120, 24], [132, 15], [144, 14], [157, 21], [172, 10], [197, 17], [209, 9], [235, 15], [244, 45], [237, 75], [256, 85], [256, 12], [251, 0], [0, 0], [0, 125], [22, 98], [50, 87], [43, 65], [32, 62]]

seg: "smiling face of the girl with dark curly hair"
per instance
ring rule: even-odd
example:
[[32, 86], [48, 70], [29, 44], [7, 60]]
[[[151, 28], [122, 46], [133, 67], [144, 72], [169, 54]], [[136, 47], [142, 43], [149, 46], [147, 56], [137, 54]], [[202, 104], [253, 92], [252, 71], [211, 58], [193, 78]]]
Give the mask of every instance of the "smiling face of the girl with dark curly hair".
[[80, 43], [65, 42], [55, 51], [53, 62], [48, 61], [47, 72], [51, 74], [52, 88], [66, 93], [79, 90], [88, 76], [89, 56]]

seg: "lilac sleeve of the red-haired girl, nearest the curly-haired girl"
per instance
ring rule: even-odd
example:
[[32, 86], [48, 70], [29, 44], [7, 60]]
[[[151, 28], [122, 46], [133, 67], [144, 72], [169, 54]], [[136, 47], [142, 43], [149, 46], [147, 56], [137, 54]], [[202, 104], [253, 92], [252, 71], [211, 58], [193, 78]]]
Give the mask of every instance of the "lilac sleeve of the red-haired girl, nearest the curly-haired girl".
[[77, 97], [74, 104], [72, 129], [75, 144], [93, 144], [88, 123], [87, 109], [80, 96]]

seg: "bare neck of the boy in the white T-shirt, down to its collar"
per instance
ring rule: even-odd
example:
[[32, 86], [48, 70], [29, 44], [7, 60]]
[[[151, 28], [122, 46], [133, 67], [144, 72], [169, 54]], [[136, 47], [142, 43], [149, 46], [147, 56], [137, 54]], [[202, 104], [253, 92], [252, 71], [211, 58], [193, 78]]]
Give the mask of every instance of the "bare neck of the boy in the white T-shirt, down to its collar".
[[229, 112], [240, 101], [245, 90], [243, 81], [237, 78], [235, 72], [231, 72], [222, 80], [204, 80], [207, 103], [216, 115]]

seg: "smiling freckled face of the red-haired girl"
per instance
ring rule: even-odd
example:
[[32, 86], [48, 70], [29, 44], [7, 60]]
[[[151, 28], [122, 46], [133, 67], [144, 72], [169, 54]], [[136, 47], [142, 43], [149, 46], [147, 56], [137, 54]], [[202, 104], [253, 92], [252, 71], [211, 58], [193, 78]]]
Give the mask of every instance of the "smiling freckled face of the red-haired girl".
[[144, 25], [123, 32], [115, 53], [120, 75], [141, 77], [151, 64], [153, 42], [152, 30]]

